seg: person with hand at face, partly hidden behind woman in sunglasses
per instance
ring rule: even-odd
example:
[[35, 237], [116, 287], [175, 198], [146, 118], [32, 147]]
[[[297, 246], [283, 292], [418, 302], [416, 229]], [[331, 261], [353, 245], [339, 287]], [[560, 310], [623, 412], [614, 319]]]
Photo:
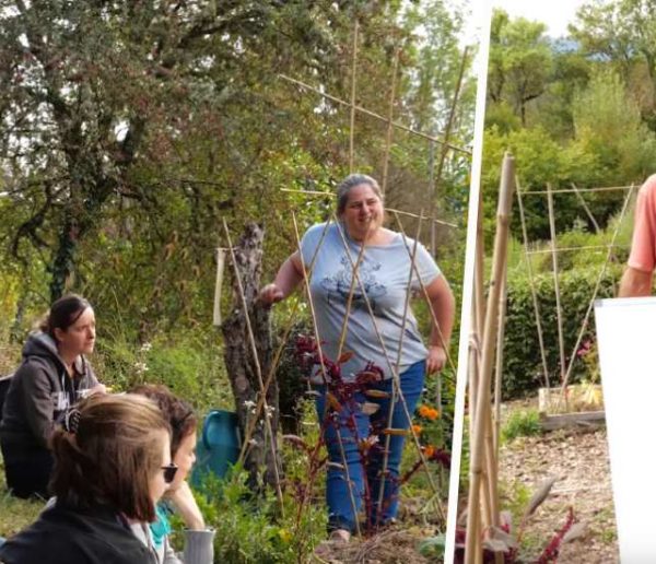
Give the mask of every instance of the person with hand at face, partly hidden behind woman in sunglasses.
[[[156, 506], [156, 520], [150, 524], [150, 537], [162, 564], [211, 564], [214, 561], [214, 533], [208, 529], [200, 508], [186, 481], [196, 461], [196, 428], [198, 419], [191, 407], [160, 385], [142, 385], [132, 390], [154, 401], [171, 425], [171, 457], [178, 470], [175, 480]], [[185, 524], [185, 549], [180, 561], [173, 551], [168, 534], [168, 515], [175, 510]], [[147, 542], [141, 528], [136, 534]]]

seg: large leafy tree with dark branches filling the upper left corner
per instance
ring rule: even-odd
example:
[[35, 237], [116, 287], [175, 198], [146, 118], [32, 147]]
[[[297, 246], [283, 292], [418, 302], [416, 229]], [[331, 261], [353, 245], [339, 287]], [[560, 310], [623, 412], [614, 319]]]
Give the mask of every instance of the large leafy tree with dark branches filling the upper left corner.
[[16, 256], [26, 240], [48, 256], [50, 298], [75, 270], [80, 242], [110, 210], [126, 201], [152, 209], [161, 192], [145, 189], [144, 167], [169, 156], [199, 114], [207, 117], [208, 102], [215, 110], [243, 96], [254, 78], [244, 71], [260, 61], [327, 63], [327, 30], [342, 17], [328, 2], [297, 10], [231, 1], [219, 11], [203, 2], [17, 0], [1, 8], [0, 156], [17, 220], [5, 236]]

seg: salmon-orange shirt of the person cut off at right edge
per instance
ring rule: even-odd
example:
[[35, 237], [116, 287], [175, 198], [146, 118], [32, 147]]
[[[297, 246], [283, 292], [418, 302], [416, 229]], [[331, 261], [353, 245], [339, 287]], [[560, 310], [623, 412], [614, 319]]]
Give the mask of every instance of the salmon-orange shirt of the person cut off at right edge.
[[637, 192], [629, 266], [643, 272], [653, 272], [656, 267], [656, 175], [649, 176]]

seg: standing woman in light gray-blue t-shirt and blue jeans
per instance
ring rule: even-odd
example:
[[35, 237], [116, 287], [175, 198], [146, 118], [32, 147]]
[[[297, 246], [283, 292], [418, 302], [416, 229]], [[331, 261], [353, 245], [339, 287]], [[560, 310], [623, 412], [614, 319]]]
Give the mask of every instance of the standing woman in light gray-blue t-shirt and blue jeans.
[[[336, 383], [323, 374], [320, 366], [316, 367], [313, 375], [319, 392], [319, 418], [325, 421], [328, 416], [329, 421], [324, 426], [324, 438], [330, 461], [333, 462], [327, 478], [328, 526], [332, 538], [347, 541], [356, 529], [358, 516], [353, 513], [353, 505], [359, 513], [363, 502], [368, 498], [365, 509], [370, 526], [385, 525], [396, 517], [405, 436], [390, 437], [387, 468], [384, 471], [383, 449], [387, 435], [383, 430], [388, 426], [389, 397], [393, 391], [390, 365], [398, 371], [401, 392], [408, 412], [412, 414], [423, 390], [424, 375], [441, 371], [446, 363], [455, 304], [447, 281], [424, 246], [417, 245], [413, 268], [411, 252], [414, 240], [383, 226], [383, 195], [375, 179], [352, 174], [340, 184], [337, 197], [339, 222], [327, 227], [326, 224], [311, 227], [301, 242], [302, 257], [298, 251], [292, 254], [281, 266], [276, 281], [261, 290], [260, 298], [272, 304], [288, 297], [303, 280], [303, 265], [308, 268], [316, 254], [313, 271], [308, 275], [324, 356], [337, 362], [347, 319], [341, 352], [348, 351], [352, 355], [340, 364], [341, 380], [353, 383], [359, 373], [366, 371], [371, 374], [372, 367], [382, 374], [380, 381], [367, 385], [370, 389], [359, 387], [354, 395], [348, 391], [349, 386], [342, 386], [347, 391], [341, 393]], [[363, 246], [359, 282], [355, 283], [349, 310], [352, 265], [356, 263]], [[408, 287], [411, 271], [412, 279]], [[437, 326], [432, 327], [427, 348], [422, 342], [411, 312], [408, 312], [403, 326], [406, 296], [408, 292], [423, 295], [422, 285], [425, 286], [437, 321]], [[385, 393], [367, 395], [371, 389]], [[327, 409], [328, 391], [338, 396], [339, 407], [330, 402]], [[371, 415], [365, 413], [362, 407], [366, 402], [376, 403], [377, 411]], [[408, 430], [410, 424], [403, 404], [397, 400], [393, 408], [391, 427]], [[366, 457], [363, 455], [363, 444], [371, 445]], [[344, 459], [353, 501], [343, 471]], [[385, 486], [380, 494], [383, 482]], [[380, 496], [382, 505], [378, 504]]]

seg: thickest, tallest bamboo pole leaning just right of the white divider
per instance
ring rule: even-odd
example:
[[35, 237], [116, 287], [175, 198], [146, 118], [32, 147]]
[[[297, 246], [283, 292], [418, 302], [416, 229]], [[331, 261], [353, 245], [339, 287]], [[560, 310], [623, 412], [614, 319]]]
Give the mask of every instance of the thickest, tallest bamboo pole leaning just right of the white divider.
[[[501, 185], [499, 193], [499, 205], [496, 212], [496, 233], [494, 235], [494, 252], [492, 261], [492, 275], [490, 278], [490, 291], [488, 294], [488, 307], [485, 313], [485, 329], [483, 332], [482, 362], [479, 374], [478, 398], [476, 404], [475, 432], [471, 442], [471, 466], [469, 480], [469, 504], [467, 515], [467, 544], [465, 548], [465, 562], [476, 562], [476, 538], [480, 531], [476, 528], [476, 513], [480, 510], [480, 484], [484, 467], [484, 432], [487, 413], [490, 409], [490, 379], [492, 375], [492, 362], [494, 359], [494, 345], [496, 344], [496, 312], [499, 307], [499, 295], [501, 287], [502, 270], [505, 265], [507, 252], [509, 211], [514, 189], [515, 162], [509, 153], [503, 160]], [[495, 484], [494, 484], [495, 485]]]

